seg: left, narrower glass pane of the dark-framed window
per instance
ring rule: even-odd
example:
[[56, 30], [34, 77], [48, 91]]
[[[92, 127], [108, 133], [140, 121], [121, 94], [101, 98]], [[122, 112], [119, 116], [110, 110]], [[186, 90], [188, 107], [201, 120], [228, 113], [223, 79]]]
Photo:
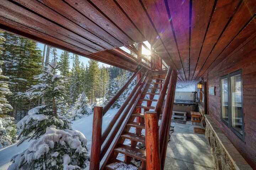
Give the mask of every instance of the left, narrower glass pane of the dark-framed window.
[[221, 80], [222, 87], [222, 119], [228, 122], [228, 78]]

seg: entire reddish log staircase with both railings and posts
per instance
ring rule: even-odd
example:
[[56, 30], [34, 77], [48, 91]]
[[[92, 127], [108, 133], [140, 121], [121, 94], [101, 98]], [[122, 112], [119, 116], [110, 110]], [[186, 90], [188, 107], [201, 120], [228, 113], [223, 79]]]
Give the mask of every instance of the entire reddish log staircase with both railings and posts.
[[[99, 170], [101, 161], [101, 170], [131, 166], [133, 158], [141, 163], [139, 170], [164, 169], [177, 72], [169, 68], [139, 74], [141, 70], [104, 107], [94, 107], [90, 170]], [[135, 76], [137, 84], [102, 133], [103, 115]], [[138, 142], [145, 143], [146, 150], [137, 148]], [[120, 154], [124, 155], [123, 162], [118, 160]]]

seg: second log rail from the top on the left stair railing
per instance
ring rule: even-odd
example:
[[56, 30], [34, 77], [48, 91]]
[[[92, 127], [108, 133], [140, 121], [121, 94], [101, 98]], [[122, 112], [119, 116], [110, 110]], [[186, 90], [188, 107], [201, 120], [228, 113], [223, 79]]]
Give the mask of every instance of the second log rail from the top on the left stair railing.
[[[148, 73], [148, 71], [144, 75], [146, 75], [147, 73]], [[138, 80], [138, 83], [135, 85], [132, 92], [130, 92], [129, 96], [126, 98], [126, 100], [124, 101], [122, 106], [119, 108], [118, 112], [116, 113], [116, 115], [112, 118], [112, 120], [108, 124], [106, 130], [103, 132], [102, 137], [101, 137], [101, 144], [106, 140], [108, 134], [110, 133], [114, 124], [116, 123], [116, 120], [119, 118], [119, 116], [121, 115], [123, 110], [126, 108], [127, 104], [129, 103], [130, 99], [132, 98], [133, 94], [135, 93], [135, 91], [137, 90], [139, 85], [141, 84], [141, 82], [144, 78], [144, 75]]]

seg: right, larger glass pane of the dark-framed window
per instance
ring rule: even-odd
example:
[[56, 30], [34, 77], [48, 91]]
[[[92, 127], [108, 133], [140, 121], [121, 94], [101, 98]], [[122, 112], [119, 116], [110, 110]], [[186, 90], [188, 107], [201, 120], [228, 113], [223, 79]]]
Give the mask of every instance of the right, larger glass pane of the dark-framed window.
[[241, 75], [230, 78], [232, 127], [242, 135]]

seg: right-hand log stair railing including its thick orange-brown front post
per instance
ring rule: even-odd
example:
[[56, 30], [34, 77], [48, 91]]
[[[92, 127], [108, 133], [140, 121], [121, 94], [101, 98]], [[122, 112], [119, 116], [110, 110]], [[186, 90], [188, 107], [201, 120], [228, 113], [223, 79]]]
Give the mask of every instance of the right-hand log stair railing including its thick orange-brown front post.
[[[145, 143], [147, 170], [164, 169], [166, 149], [171, 124], [171, 115], [174, 104], [176, 81], [177, 72], [169, 68], [164, 85], [159, 95], [158, 103], [155, 107], [155, 112], [145, 112]], [[161, 125], [159, 128], [158, 121], [162, 105], [164, 103], [165, 95], [165, 107], [162, 113]], [[158, 117], [158, 119], [156, 119], [156, 117]]]

